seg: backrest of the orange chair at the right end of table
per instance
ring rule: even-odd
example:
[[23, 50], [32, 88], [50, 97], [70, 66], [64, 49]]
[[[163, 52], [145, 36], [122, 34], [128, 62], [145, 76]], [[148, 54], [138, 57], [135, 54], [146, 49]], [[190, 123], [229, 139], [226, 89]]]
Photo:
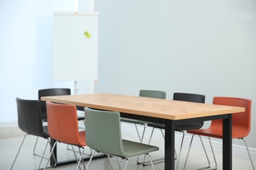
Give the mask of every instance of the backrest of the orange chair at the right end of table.
[[[245, 112], [232, 114], [233, 132], [240, 131], [240, 137], [246, 137], [251, 130], [251, 100], [236, 97], [213, 97], [214, 105], [244, 107]], [[211, 126], [223, 127], [223, 120], [212, 120]], [[238, 127], [238, 128], [235, 128]], [[234, 138], [234, 137], [233, 137]]]

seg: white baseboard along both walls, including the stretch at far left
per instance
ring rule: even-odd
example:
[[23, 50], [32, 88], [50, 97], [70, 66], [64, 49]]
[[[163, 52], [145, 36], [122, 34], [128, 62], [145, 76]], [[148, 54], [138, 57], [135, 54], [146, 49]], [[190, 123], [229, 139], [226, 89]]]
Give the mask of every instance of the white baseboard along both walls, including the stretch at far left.
[[[122, 127], [122, 133], [127, 133], [129, 135], [135, 135], [137, 137], [137, 131], [133, 124], [128, 124], [128, 123], [122, 122], [121, 127]], [[137, 127], [142, 134], [143, 126], [137, 126]], [[145, 143], [147, 143], [148, 139], [150, 138], [151, 132], [152, 132], [152, 127], [146, 127], [145, 135], [144, 135]], [[1, 138], [14, 137], [14, 136], [18, 136], [18, 135], [24, 135], [24, 132], [20, 130], [17, 122], [0, 123], [0, 137]], [[154, 131], [153, 139], [155, 141], [159, 141], [159, 142], [163, 143], [163, 137], [162, 137], [161, 131], [159, 129], [156, 129]], [[177, 144], [181, 143], [181, 139], [182, 139], [182, 133], [179, 133], [179, 132], [175, 133], [175, 143], [177, 143]], [[186, 134], [184, 137], [183, 146], [188, 147], [190, 144], [190, 140], [191, 140], [191, 135]], [[203, 140], [203, 144], [205, 145], [205, 149], [207, 151], [211, 151], [209, 141], [207, 140], [207, 138], [202, 138], [202, 140]], [[211, 143], [213, 145], [213, 149], [214, 149], [215, 153], [222, 153], [222, 141], [221, 140], [211, 139]], [[197, 148], [197, 149], [202, 149], [202, 144], [201, 144], [199, 137], [194, 137], [192, 147]], [[241, 142], [241, 145], [233, 144], [232, 148], [233, 148], [232, 151], [233, 151], [234, 157], [249, 160], [247, 150], [244, 146], [244, 142]], [[253, 160], [256, 160], [256, 148], [249, 147], [249, 152], [251, 154], [251, 158]]]

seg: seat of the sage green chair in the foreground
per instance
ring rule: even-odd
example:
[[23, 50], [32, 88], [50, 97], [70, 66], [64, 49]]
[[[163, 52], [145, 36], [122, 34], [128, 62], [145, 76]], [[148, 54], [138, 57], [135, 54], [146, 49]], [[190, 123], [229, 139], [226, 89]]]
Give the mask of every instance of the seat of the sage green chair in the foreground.
[[152, 146], [152, 145], [143, 144], [143, 143], [136, 143], [133, 141], [122, 140], [122, 143], [123, 143], [123, 156], [127, 158], [159, 150], [157, 146]]

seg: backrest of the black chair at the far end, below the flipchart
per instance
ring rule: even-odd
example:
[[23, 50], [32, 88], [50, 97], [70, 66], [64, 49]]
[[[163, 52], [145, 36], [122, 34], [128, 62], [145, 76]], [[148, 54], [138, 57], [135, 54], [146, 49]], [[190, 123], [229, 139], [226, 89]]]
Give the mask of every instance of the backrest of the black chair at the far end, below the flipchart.
[[54, 95], [70, 95], [70, 88], [47, 88], [38, 90], [38, 99], [41, 102], [42, 118], [47, 119], [46, 113], [46, 101], [41, 101], [43, 96], [54, 96]]

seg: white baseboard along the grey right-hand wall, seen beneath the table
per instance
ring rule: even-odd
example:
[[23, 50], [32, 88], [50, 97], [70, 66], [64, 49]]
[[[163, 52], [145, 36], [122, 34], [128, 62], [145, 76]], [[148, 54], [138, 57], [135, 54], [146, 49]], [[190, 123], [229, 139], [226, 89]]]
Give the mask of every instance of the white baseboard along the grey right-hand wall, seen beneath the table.
[[[128, 133], [129, 135], [137, 135], [135, 126], [133, 124], [127, 124], [127, 123], [122, 122], [121, 125], [122, 125], [122, 132], [123, 133]], [[137, 126], [137, 127], [138, 127], [139, 131], [142, 132], [142, 126]], [[151, 127], [146, 127], [146, 130], [145, 130], [145, 139], [146, 140], [149, 139], [151, 131], [152, 131]], [[191, 137], [192, 137], [192, 135], [186, 133], [186, 135], [184, 137], [184, 142], [183, 142], [184, 147], [188, 148], [188, 146], [190, 144]], [[159, 129], [154, 131], [153, 139], [156, 140], [156, 141], [160, 141], [160, 142], [162, 141], [163, 142], [163, 137], [162, 137], [161, 131]], [[182, 139], [182, 133], [179, 133], [179, 132], [175, 133], [175, 143], [180, 144], [181, 139]], [[240, 140], [240, 139], [234, 139], [234, 140]], [[205, 149], [207, 151], [211, 152], [211, 147], [210, 147], [208, 139], [202, 137], [202, 141], [203, 141], [203, 144], [205, 146]], [[242, 140], [240, 140], [240, 141], [241, 141], [241, 145], [233, 144], [232, 154], [236, 158], [242, 158], [242, 159], [245, 159], [245, 160], [249, 160], [249, 156], [247, 154], [247, 150], [246, 150], [246, 147], [244, 145], [244, 141], [242, 141]], [[213, 146], [213, 150], [214, 150], [215, 153], [221, 154], [223, 152], [222, 151], [223, 150], [223, 145], [222, 145], [222, 140], [221, 139], [211, 139], [211, 144]], [[196, 137], [196, 136], [194, 137], [192, 147], [196, 148], [196, 149], [203, 149], [199, 137]], [[252, 160], [256, 160], [256, 148], [249, 147], [249, 152], [251, 154]]]

